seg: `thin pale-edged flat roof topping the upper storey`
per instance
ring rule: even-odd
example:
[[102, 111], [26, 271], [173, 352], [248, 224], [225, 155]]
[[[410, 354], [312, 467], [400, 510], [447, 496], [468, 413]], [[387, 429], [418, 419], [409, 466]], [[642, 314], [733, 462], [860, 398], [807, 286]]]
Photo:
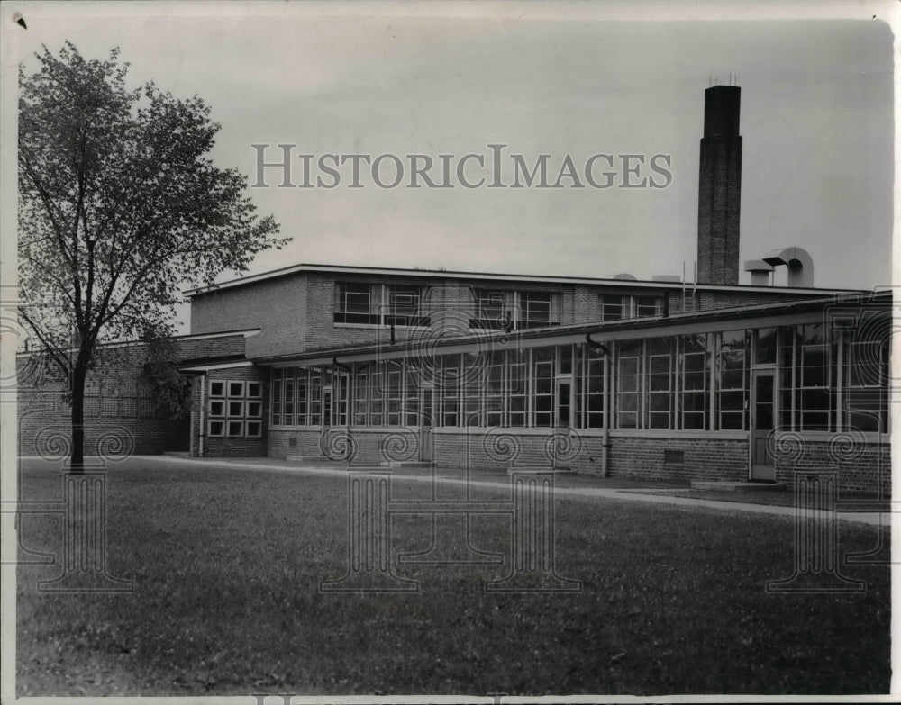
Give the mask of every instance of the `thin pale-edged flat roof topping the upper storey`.
[[[399, 267], [357, 267], [346, 265], [317, 265], [298, 264], [291, 267], [281, 267], [263, 272], [257, 275], [241, 276], [230, 279], [221, 284], [198, 286], [194, 289], [186, 289], [182, 292], [187, 297], [199, 294], [211, 294], [223, 289], [232, 289], [236, 286], [246, 286], [275, 279], [279, 276], [290, 276], [307, 272], [329, 274], [360, 274], [380, 276], [407, 276], [429, 279], [494, 279], [504, 282], [537, 282], [541, 284], [585, 284], [585, 285], [613, 285], [623, 288], [648, 288], [649, 286], [660, 289], [681, 289], [682, 282], [661, 282], [653, 279], [614, 279], [612, 277], [587, 277], [587, 276], [536, 276], [503, 274], [492, 272], [460, 272], [445, 269], [405, 269]], [[743, 291], [743, 292], [775, 292], [778, 294], [845, 294], [849, 292], [863, 291], [862, 289], [819, 289], [804, 288], [799, 286], [760, 286], [760, 285], [714, 285], [686, 282], [686, 287], [704, 289], [705, 291]]]

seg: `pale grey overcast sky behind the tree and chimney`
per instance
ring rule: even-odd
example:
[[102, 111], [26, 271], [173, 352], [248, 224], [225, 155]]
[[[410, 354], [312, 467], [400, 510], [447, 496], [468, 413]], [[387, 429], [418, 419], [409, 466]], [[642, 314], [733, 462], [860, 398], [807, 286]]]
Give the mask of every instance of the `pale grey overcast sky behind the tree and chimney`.
[[878, 20], [613, 22], [587, 4], [491, 5], [506, 15], [495, 18], [414, 16], [422, 5], [369, 17], [287, 4], [232, 17], [210, 6], [194, 16], [185, 5], [21, 7], [20, 56], [66, 39], [90, 58], [120, 46], [135, 84], [212, 106], [216, 161], [250, 177], [253, 143], [436, 161], [490, 158], [487, 145], [503, 143], [530, 164], [551, 155], [551, 181], [567, 154], [578, 169], [596, 153], [671, 159], [667, 187], [636, 189], [384, 189], [365, 165], [360, 189], [346, 186], [349, 166], [333, 189], [279, 189], [270, 170], [271, 187], [251, 194], [293, 241], [252, 272], [314, 262], [650, 278], [685, 262], [690, 279], [704, 91], [731, 74], [742, 87], [742, 262], [794, 245], [813, 256], [816, 285], [890, 282], [892, 33]]

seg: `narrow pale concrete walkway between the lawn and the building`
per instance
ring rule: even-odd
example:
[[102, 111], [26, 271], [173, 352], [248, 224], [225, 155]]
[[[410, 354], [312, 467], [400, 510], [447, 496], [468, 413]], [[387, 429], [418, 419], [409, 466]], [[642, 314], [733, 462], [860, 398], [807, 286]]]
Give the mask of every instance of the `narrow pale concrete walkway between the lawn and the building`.
[[[340, 467], [301, 467], [298, 465], [290, 465], [285, 461], [278, 461], [272, 458], [258, 460], [235, 460], [232, 458], [181, 458], [172, 456], [135, 456], [141, 460], [156, 461], [166, 465], [196, 465], [206, 467], [236, 467], [244, 470], [257, 470], [264, 472], [279, 473], [297, 473], [302, 475], [332, 475], [335, 477], [346, 477], [347, 469]], [[367, 468], [371, 469], [371, 468]], [[391, 470], [386, 467], [385, 470]], [[441, 473], [442, 468], [439, 468]], [[452, 470], [444, 470], [444, 472], [453, 472]], [[459, 471], [462, 473], [463, 471]], [[431, 473], [423, 475], [410, 475], [394, 470], [395, 476], [403, 478], [409, 482], [441, 484], [460, 484], [469, 485], [470, 487], [486, 487], [493, 489], [509, 489], [509, 482], [498, 482], [492, 480], [463, 480], [455, 477], [443, 477], [441, 475], [433, 476]], [[665, 492], [665, 490], [660, 490]], [[729, 512], [747, 512], [751, 514], [771, 514], [780, 517], [794, 517], [796, 510], [794, 507], [781, 507], [771, 504], [750, 504], [745, 502], [722, 502], [719, 500], [703, 500], [695, 497], [670, 497], [665, 494], [650, 494], [648, 491], [629, 490], [629, 489], [613, 489], [605, 487], [560, 487], [554, 486], [555, 495], [562, 497], [574, 497], [583, 499], [605, 499], [618, 500], [623, 502], [646, 502], [651, 504], [669, 504], [676, 505], [683, 509], [711, 509]], [[884, 516], [883, 516], [884, 514]], [[891, 512], [837, 512], [836, 518], [842, 521], [848, 521], [854, 524], [866, 524], [874, 527], [887, 527]]]

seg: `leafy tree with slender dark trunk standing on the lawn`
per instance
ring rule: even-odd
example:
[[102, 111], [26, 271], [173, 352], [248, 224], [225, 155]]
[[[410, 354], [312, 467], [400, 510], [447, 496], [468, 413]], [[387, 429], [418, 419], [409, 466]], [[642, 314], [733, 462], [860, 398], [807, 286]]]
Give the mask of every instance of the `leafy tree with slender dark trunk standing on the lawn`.
[[209, 158], [220, 126], [201, 98], [129, 88], [118, 50], [36, 56], [19, 73], [19, 312], [68, 379], [77, 469], [97, 345], [170, 335], [181, 286], [246, 271], [287, 240], [245, 177]]

